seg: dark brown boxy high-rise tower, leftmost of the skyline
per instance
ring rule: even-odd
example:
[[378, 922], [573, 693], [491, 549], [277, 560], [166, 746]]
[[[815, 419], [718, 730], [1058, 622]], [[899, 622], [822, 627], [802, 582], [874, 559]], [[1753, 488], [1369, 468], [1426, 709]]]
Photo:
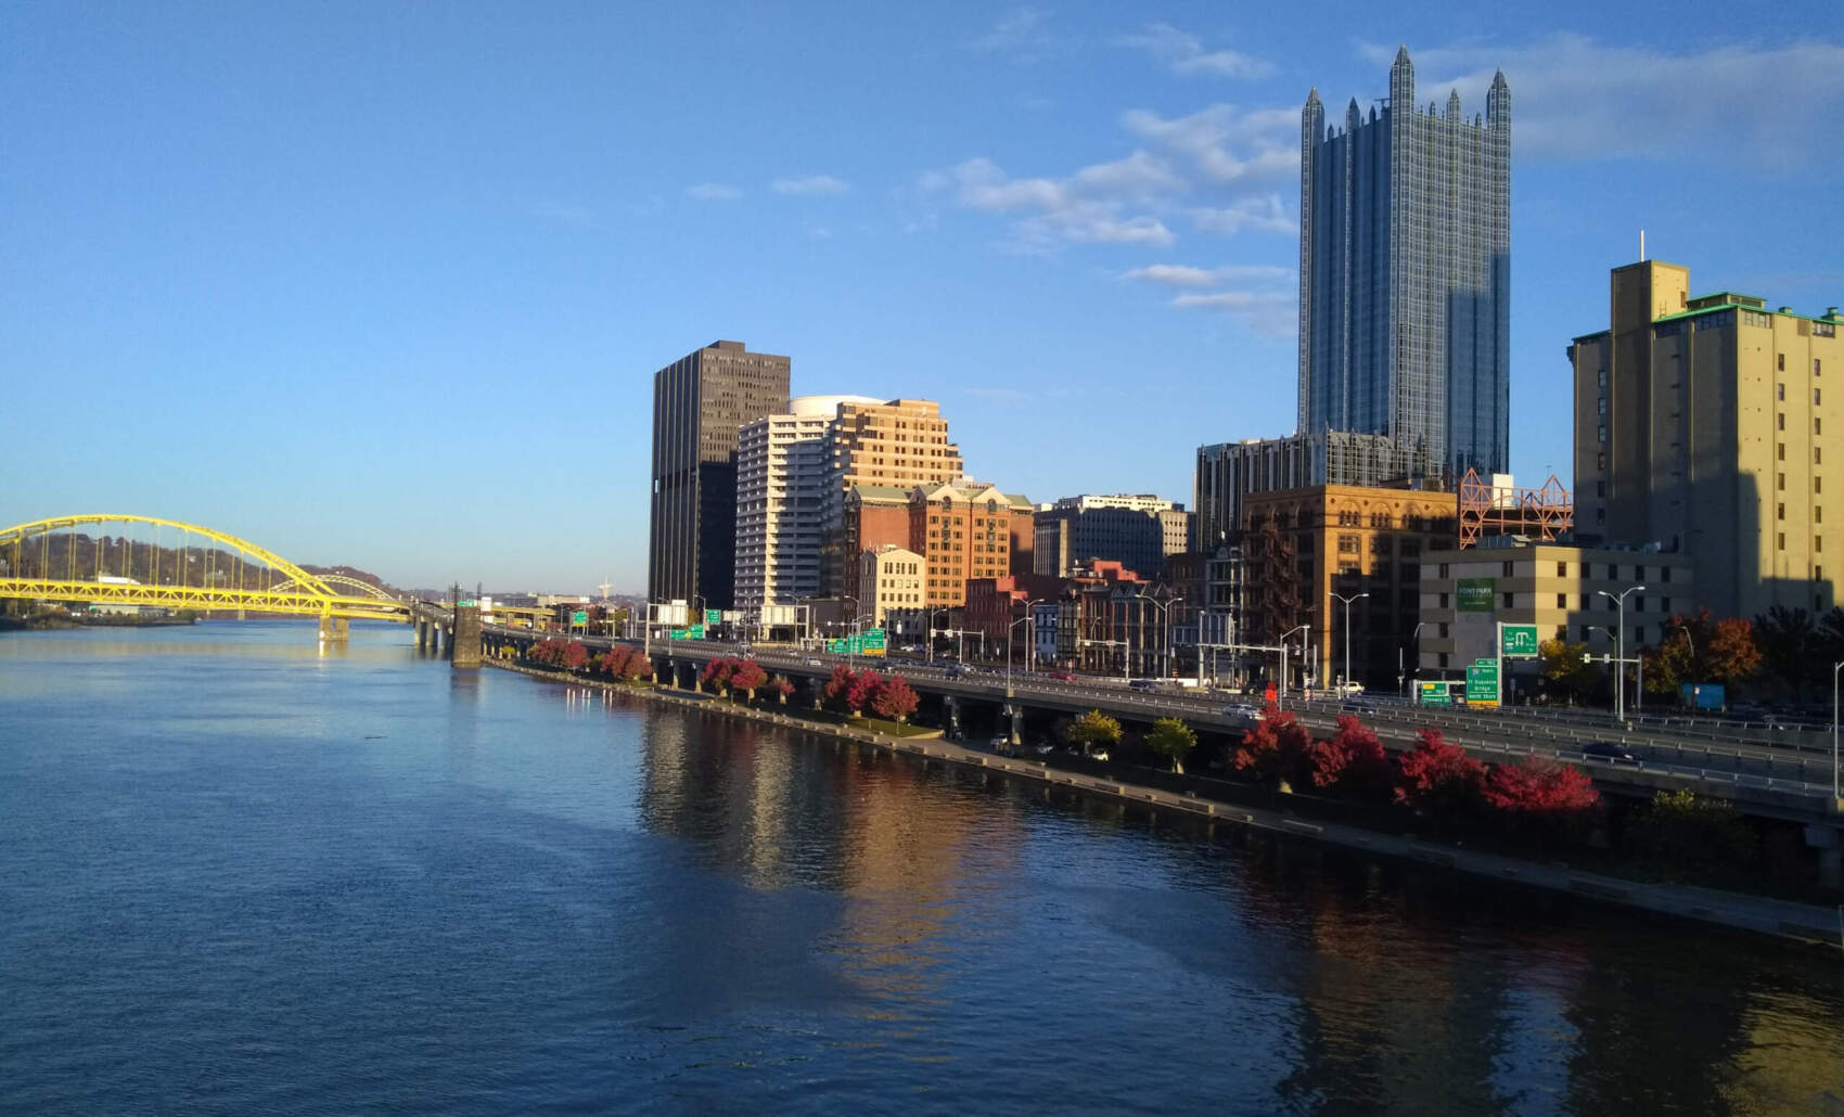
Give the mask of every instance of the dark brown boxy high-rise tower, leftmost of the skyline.
[[647, 599], [730, 608], [736, 431], [787, 411], [791, 361], [715, 341], [653, 374]]

